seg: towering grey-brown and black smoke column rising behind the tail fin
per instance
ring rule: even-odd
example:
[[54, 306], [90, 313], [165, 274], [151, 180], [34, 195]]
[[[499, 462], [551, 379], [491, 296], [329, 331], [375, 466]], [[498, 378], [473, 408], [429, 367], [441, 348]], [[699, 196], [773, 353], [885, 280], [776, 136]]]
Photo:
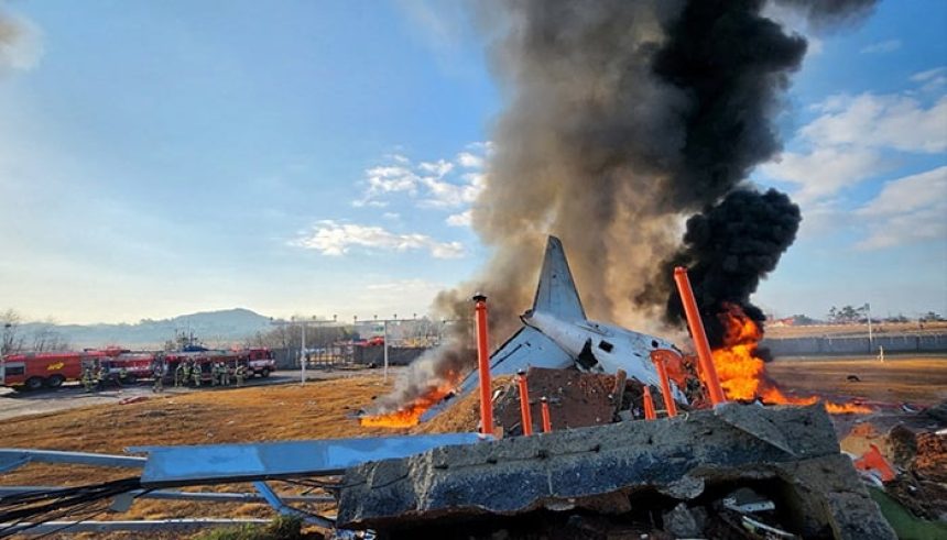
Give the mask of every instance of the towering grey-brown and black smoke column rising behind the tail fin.
[[[826, 24], [873, 3], [780, 2]], [[591, 318], [667, 331], [662, 263], [678, 252], [685, 218], [734, 190], [752, 194], [747, 176], [780, 151], [773, 120], [805, 40], [766, 18], [762, 0], [488, 5], [509, 104], [474, 227], [493, 256], [437, 307], [469, 317], [470, 295], [483, 291], [492, 344], [501, 343], [530, 307], [545, 236], [555, 234]]]

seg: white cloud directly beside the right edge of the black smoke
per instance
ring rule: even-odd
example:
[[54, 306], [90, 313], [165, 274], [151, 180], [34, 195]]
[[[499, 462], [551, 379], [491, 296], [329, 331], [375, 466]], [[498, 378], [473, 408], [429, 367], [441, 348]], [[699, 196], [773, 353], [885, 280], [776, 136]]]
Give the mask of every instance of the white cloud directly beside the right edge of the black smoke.
[[886, 165], [881, 155], [868, 148], [817, 147], [803, 154], [784, 152], [761, 172], [770, 177], [799, 186], [794, 198], [802, 203], [830, 196], [882, 172]]

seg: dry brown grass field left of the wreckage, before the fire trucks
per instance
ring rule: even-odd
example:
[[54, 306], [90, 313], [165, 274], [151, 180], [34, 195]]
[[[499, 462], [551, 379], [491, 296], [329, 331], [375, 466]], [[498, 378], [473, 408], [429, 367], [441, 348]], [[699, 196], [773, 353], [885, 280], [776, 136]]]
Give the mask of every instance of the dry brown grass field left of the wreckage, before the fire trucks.
[[[351, 415], [387, 392], [381, 375], [333, 381], [194, 392], [129, 405], [97, 405], [3, 420], [3, 447], [122, 453], [132, 445], [214, 444], [292, 439], [395, 434], [404, 430], [363, 428]], [[26, 465], [0, 475], [2, 485], [81, 485], [135, 476], [140, 471], [79, 465]], [[298, 489], [274, 483], [283, 493]], [[197, 489], [200, 491], [200, 489]], [[217, 491], [252, 492], [249, 485]], [[183, 517], [270, 518], [263, 504], [138, 500], [128, 513], [89, 519]], [[98, 537], [96, 537], [98, 538]], [[109, 538], [137, 538], [110, 535]]]

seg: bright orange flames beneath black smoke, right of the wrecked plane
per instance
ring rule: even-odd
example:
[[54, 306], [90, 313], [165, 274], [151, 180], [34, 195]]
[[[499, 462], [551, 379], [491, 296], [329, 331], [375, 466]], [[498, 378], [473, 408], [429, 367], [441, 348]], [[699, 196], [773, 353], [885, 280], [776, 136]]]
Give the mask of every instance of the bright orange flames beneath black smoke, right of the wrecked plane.
[[[723, 346], [712, 351], [714, 366], [727, 399], [761, 399], [765, 404], [812, 405], [819, 400], [816, 396], [787, 396], [776, 383], [766, 375], [765, 362], [756, 355], [756, 346], [763, 338], [760, 327], [747, 317], [736, 305], [727, 305], [719, 313], [725, 324]], [[830, 414], [871, 412], [869, 407], [856, 404], [826, 401]]]

